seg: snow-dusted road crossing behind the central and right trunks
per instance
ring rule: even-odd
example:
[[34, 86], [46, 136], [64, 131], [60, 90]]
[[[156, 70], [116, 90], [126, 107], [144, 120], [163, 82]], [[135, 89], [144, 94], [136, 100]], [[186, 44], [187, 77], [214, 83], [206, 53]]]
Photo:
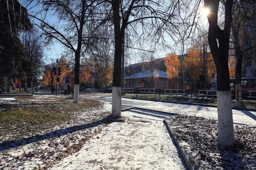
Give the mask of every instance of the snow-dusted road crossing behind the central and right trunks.
[[[105, 102], [112, 102], [111, 94], [82, 94], [82, 98], [101, 100]], [[177, 103], [167, 102], [154, 102], [147, 100], [137, 99], [125, 99], [122, 98], [122, 105], [128, 105], [132, 107], [146, 108], [157, 111], [165, 111], [176, 114], [186, 114], [206, 117], [209, 119], [218, 119], [217, 108], [204, 107], [201, 105], [185, 105]], [[256, 126], [256, 112], [233, 110], [233, 122], [241, 125], [253, 125]]]

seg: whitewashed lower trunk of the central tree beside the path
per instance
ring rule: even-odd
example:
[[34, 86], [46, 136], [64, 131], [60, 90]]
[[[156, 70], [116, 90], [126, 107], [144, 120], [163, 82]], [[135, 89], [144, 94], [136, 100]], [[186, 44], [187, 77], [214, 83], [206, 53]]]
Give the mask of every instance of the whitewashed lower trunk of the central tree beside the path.
[[121, 87], [112, 87], [112, 113], [113, 117], [121, 117]]

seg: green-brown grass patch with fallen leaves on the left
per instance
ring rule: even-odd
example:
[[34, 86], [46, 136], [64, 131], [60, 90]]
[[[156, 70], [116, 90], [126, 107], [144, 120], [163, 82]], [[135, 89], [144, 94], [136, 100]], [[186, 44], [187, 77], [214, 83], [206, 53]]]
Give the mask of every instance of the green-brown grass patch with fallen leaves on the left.
[[[17, 104], [16, 104], [17, 103]], [[64, 99], [19, 99], [14, 104], [1, 104], [0, 134], [15, 134], [16, 138], [31, 136], [31, 133], [44, 130], [45, 127], [62, 125], [73, 119], [73, 113], [98, 108], [99, 101], [80, 100], [80, 103]], [[0, 141], [1, 142], [1, 141]]]

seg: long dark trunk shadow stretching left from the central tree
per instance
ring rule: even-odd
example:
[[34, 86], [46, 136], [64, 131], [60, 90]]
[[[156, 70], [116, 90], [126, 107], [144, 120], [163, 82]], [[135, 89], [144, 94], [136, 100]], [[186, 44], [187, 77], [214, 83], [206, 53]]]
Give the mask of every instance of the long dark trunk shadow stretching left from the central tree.
[[31, 144], [34, 142], [39, 142], [45, 139], [51, 139], [54, 137], [59, 137], [59, 136], [64, 136], [68, 133], [73, 133], [79, 130], [84, 130], [84, 129], [89, 129], [92, 127], [97, 127], [99, 125], [103, 125], [105, 123], [111, 123], [116, 121], [115, 118], [113, 118], [111, 115], [101, 119], [97, 122], [91, 122], [91, 123], [87, 123], [87, 124], [83, 124], [83, 125], [76, 125], [73, 127], [67, 127], [64, 129], [59, 129], [59, 130], [55, 130], [49, 133], [45, 133], [42, 135], [36, 135], [36, 136], [30, 136], [27, 138], [23, 138], [23, 139], [17, 139], [17, 140], [12, 140], [12, 141], [7, 141], [7, 142], [2, 142], [0, 143], [0, 152], [4, 151], [4, 150], [8, 150], [8, 149], [12, 149], [12, 148], [16, 148], [19, 147], [21, 145], [26, 145], [26, 144]]

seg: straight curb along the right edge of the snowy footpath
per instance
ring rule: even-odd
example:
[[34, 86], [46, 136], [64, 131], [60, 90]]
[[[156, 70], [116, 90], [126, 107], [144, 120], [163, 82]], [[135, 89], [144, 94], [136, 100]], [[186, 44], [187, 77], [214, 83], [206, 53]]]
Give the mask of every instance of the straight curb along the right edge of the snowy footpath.
[[175, 137], [174, 134], [172, 133], [171, 128], [169, 127], [168, 123], [166, 122], [166, 119], [163, 119], [163, 123], [164, 123], [164, 125], [167, 127], [167, 129], [169, 130], [169, 132], [170, 132], [170, 134], [171, 134], [171, 136], [172, 136], [172, 139], [174, 140], [174, 143], [176, 144], [177, 148], [179, 149], [180, 155], [181, 155], [181, 157], [183, 158], [184, 163], [185, 163], [187, 169], [188, 169], [188, 170], [194, 170], [193, 166], [189, 163], [189, 159], [188, 159], [188, 157], [186, 156], [186, 153], [183, 152], [182, 147], [180, 147], [180, 144], [179, 144], [178, 140], [176, 139], [176, 137]]

